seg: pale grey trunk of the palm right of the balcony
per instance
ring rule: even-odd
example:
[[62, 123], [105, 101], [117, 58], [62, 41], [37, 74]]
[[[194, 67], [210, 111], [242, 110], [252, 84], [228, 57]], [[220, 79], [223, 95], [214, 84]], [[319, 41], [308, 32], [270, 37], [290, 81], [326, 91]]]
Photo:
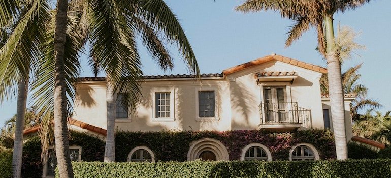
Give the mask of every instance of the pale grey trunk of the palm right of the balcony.
[[326, 59], [329, 79], [329, 94], [331, 117], [333, 120], [333, 131], [335, 137], [335, 148], [337, 159], [347, 159], [347, 142], [345, 132], [345, 108], [342, 90], [341, 64], [335, 53], [333, 16], [324, 17], [324, 28], [326, 37]]

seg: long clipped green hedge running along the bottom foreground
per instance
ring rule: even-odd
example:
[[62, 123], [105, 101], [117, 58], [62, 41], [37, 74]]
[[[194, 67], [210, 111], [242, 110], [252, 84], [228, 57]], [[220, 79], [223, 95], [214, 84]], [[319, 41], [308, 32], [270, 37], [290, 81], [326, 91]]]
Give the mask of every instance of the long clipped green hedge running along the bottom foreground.
[[[224, 161], [103, 163], [73, 162], [84, 177], [391, 177], [391, 160]], [[56, 170], [58, 176], [58, 170]]]

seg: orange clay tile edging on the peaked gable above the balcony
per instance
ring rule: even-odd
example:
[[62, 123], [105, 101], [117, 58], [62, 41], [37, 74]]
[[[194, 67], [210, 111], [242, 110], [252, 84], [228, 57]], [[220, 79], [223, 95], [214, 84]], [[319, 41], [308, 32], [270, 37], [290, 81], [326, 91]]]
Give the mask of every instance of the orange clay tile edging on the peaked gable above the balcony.
[[302, 68], [305, 68], [305, 69], [309, 69], [309, 70], [312, 70], [312, 71], [315, 71], [315, 72], [320, 72], [320, 73], [323, 73], [323, 74], [327, 73], [327, 69], [322, 68], [320, 66], [316, 66], [316, 65], [313, 65], [313, 64], [301, 62], [301, 61], [294, 60], [292, 58], [285, 57], [285, 56], [282, 56], [282, 55], [277, 55], [277, 54], [267, 55], [265, 57], [258, 58], [258, 59], [254, 60], [254, 61], [250, 61], [250, 62], [241, 64], [241, 65], [234, 66], [234, 67], [229, 68], [229, 69], [225, 69], [223, 71], [223, 73], [225, 75], [232, 74], [234, 72], [238, 72], [238, 71], [244, 70], [246, 68], [249, 68], [249, 67], [252, 67], [252, 66], [256, 66], [256, 65], [259, 65], [259, 64], [263, 64], [263, 63], [266, 63], [266, 62], [269, 62], [269, 61], [272, 61], [272, 60], [281, 61], [281, 62], [284, 62], [284, 63], [288, 63], [288, 64], [295, 65], [295, 66], [299, 66], [299, 67], [302, 67]]

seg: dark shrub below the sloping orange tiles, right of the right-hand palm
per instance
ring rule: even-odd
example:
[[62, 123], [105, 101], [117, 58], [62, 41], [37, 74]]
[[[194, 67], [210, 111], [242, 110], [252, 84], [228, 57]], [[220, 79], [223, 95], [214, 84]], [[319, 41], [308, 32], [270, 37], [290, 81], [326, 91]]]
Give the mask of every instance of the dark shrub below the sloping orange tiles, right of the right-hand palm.
[[376, 151], [370, 149], [368, 146], [357, 144], [356, 142], [349, 142], [347, 144], [348, 158], [351, 159], [376, 159], [378, 154]]

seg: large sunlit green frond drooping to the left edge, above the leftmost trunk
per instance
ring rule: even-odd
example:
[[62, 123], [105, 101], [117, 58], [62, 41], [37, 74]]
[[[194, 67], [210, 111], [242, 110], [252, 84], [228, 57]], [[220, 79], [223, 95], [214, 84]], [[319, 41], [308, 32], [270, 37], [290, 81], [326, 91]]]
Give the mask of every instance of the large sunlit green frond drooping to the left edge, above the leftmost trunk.
[[27, 6], [23, 17], [0, 49], [0, 102], [14, 94], [20, 75], [28, 78], [32, 58], [38, 58], [39, 34], [48, 18], [46, 0], [36, 0]]

